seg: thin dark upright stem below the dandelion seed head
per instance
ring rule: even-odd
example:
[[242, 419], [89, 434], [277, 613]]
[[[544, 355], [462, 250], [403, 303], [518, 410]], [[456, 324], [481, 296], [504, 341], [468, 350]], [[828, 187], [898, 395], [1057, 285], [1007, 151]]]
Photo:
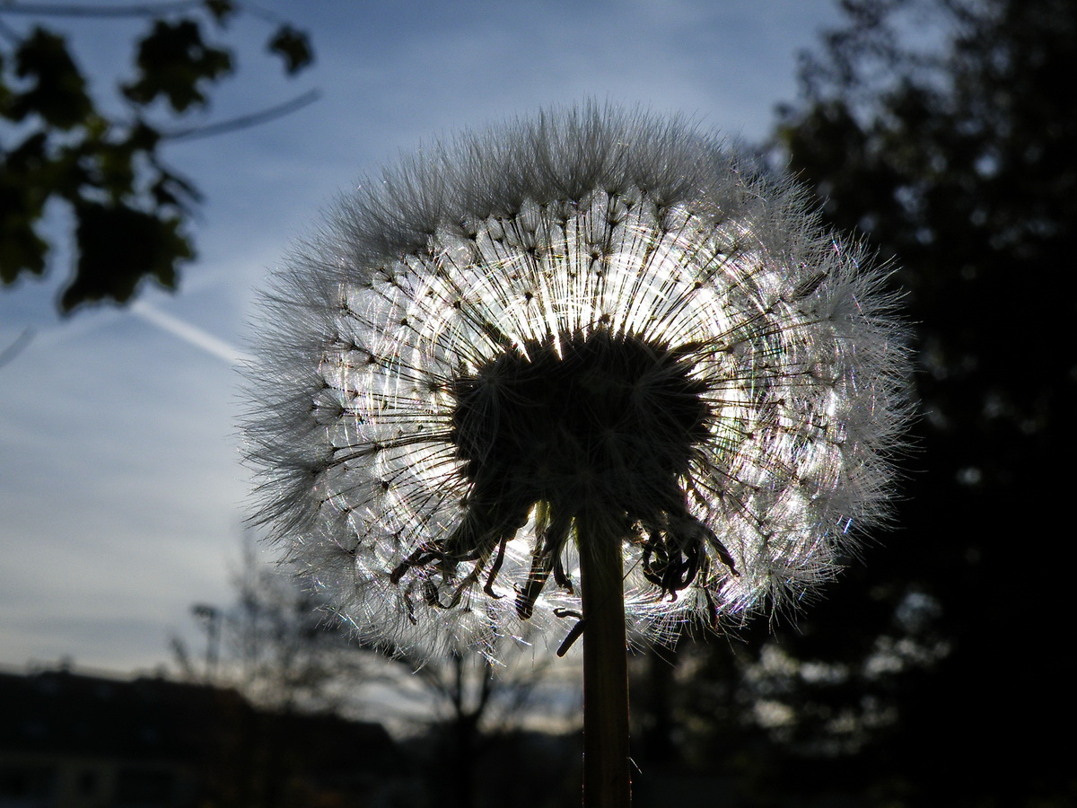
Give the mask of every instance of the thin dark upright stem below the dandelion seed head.
[[584, 607], [584, 808], [631, 803], [620, 541], [577, 519]]

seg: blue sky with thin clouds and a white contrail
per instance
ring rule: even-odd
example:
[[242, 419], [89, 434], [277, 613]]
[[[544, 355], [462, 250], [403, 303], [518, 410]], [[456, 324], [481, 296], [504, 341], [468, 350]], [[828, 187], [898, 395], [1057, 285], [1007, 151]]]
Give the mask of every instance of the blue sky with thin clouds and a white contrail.
[[[0, 349], [32, 329], [0, 366], [0, 665], [153, 668], [170, 635], [195, 635], [192, 603], [232, 600], [250, 488], [234, 359], [256, 330], [254, 290], [334, 195], [438, 135], [587, 97], [761, 139], [795, 98], [797, 53], [838, 20], [835, 0], [265, 8], [310, 32], [317, 64], [280, 78], [260, 53], [269, 27], [238, 20], [240, 72], [210, 119], [322, 98], [166, 152], [206, 195], [180, 292], [61, 320], [62, 250], [44, 282], [0, 290]], [[127, 58], [129, 27], [67, 28], [95, 75]]]

